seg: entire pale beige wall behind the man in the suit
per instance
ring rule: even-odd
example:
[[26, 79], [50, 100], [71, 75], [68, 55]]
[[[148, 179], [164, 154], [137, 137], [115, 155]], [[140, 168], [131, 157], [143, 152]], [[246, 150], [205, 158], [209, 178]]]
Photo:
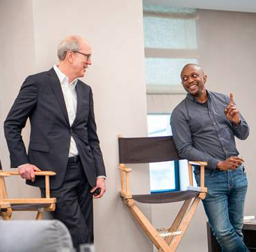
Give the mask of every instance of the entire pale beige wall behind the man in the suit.
[[[56, 62], [56, 47], [67, 35], [86, 37], [93, 65], [83, 81], [93, 88], [99, 139], [106, 165], [106, 194], [94, 201], [97, 251], [152, 251], [152, 245], [123, 205], [118, 191], [118, 133], [147, 133], [142, 2], [137, 0], [24, 0], [0, 3], [1, 27], [1, 160], [9, 167], [3, 138], [6, 118], [22, 81]], [[29, 140], [29, 128], [24, 135]], [[150, 190], [147, 169], [133, 172], [132, 192]], [[8, 183], [10, 196], [21, 194], [24, 181]], [[24, 187], [25, 188], [25, 187]], [[28, 196], [38, 189], [26, 187]], [[150, 217], [150, 206], [143, 206]], [[14, 219], [31, 219], [16, 213]]]

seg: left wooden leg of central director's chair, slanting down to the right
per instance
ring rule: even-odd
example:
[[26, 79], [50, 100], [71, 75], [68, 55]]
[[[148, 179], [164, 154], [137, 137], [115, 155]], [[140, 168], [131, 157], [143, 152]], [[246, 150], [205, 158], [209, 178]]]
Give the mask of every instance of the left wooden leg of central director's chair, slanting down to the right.
[[140, 224], [141, 228], [143, 228], [145, 234], [150, 237], [150, 240], [152, 240], [157, 249], [161, 248], [164, 252], [171, 252], [168, 244], [166, 244], [154, 226], [152, 226], [150, 221], [148, 221], [147, 217], [143, 215], [143, 212], [138, 209], [134, 200], [127, 199], [125, 203], [127, 204], [131, 213], [134, 215], [135, 219], [138, 221], [138, 224]]

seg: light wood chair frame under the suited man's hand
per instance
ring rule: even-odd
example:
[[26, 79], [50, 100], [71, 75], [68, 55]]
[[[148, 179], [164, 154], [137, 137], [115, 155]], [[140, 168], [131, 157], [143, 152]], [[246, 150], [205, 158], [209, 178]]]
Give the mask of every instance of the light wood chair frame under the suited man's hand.
[[[54, 211], [56, 198], [50, 197], [49, 176], [56, 175], [53, 171], [35, 171], [35, 176], [45, 176], [45, 198], [10, 199], [8, 198], [5, 177], [17, 176], [19, 171], [0, 170], [0, 216], [10, 220], [13, 211], [38, 211], [35, 219], [42, 219], [43, 211]], [[22, 208], [15, 208], [22, 206]]]

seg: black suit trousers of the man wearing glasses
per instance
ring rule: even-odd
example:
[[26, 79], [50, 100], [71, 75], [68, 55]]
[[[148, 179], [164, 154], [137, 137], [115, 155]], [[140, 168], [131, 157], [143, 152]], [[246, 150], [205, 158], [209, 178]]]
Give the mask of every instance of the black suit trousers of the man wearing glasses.
[[[70, 160], [71, 159], [71, 160]], [[54, 219], [62, 221], [72, 236], [75, 248], [79, 244], [93, 243], [93, 194], [81, 162], [69, 158], [63, 185], [51, 190], [51, 197], [57, 199]], [[45, 195], [45, 189], [41, 189]]]

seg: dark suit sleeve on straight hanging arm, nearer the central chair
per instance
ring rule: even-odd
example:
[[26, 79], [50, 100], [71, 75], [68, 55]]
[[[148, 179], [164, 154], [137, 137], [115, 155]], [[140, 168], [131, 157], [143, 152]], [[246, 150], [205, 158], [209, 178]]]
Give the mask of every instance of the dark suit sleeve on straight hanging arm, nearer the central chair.
[[95, 115], [93, 108], [93, 92], [90, 88], [90, 110], [88, 117], [88, 141], [90, 148], [93, 152], [95, 159], [95, 165], [97, 169], [97, 176], [106, 176], [104, 160], [102, 157], [102, 151], [99, 147], [99, 137], [97, 136], [97, 126], [95, 123]]

